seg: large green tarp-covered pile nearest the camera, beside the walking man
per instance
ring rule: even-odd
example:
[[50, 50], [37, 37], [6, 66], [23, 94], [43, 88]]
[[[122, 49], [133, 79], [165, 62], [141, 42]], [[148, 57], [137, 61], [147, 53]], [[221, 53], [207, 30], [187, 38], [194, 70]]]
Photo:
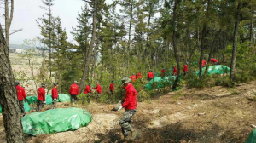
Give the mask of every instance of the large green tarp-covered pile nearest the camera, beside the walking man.
[[52, 134], [86, 127], [91, 121], [90, 112], [80, 108], [58, 108], [46, 112], [33, 112], [22, 117], [26, 134]]

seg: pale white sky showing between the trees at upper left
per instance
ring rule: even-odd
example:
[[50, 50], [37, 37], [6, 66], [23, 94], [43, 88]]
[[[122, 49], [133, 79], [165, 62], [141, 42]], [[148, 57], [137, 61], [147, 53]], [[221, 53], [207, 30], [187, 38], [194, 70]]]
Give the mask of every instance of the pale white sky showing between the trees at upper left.
[[[84, 1], [55, 0], [54, 3], [53, 15], [61, 17], [61, 26], [66, 28], [68, 41], [73, 42], [73, 36], [70, 32], [73, 31], [72, 27], [77, 25], [77, 16], [81, 12], [81, 7], [84, 6]], [[25, 39], [40, 36], [40, 29], [36, 20], [38, 17], [42, 17], [46, 11], [39, 6], [44, 6], [41, 0], [15, 0], [11, 30], [23, 29], [23, 31], [10, 35], [10, 44], [21, 45]], [[3, 25], [3, 20], [0, 22]]]

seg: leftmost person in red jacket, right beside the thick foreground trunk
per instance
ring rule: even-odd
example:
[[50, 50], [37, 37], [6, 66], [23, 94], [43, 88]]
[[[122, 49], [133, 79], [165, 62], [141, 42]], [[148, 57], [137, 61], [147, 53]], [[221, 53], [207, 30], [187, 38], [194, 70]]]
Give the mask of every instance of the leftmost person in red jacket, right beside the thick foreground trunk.
[[26, 94], [25, 94], [25, 89], [20, 87], [20, 81], [15, 81], [16, 89], [17, 89], [17, 96], [19, 100], [19, 106], [21, 110], [21, 114], [24, 117], [26, 115], [25, 109], [24, 109], [24, 103], [23, 99], [26, 102]]

